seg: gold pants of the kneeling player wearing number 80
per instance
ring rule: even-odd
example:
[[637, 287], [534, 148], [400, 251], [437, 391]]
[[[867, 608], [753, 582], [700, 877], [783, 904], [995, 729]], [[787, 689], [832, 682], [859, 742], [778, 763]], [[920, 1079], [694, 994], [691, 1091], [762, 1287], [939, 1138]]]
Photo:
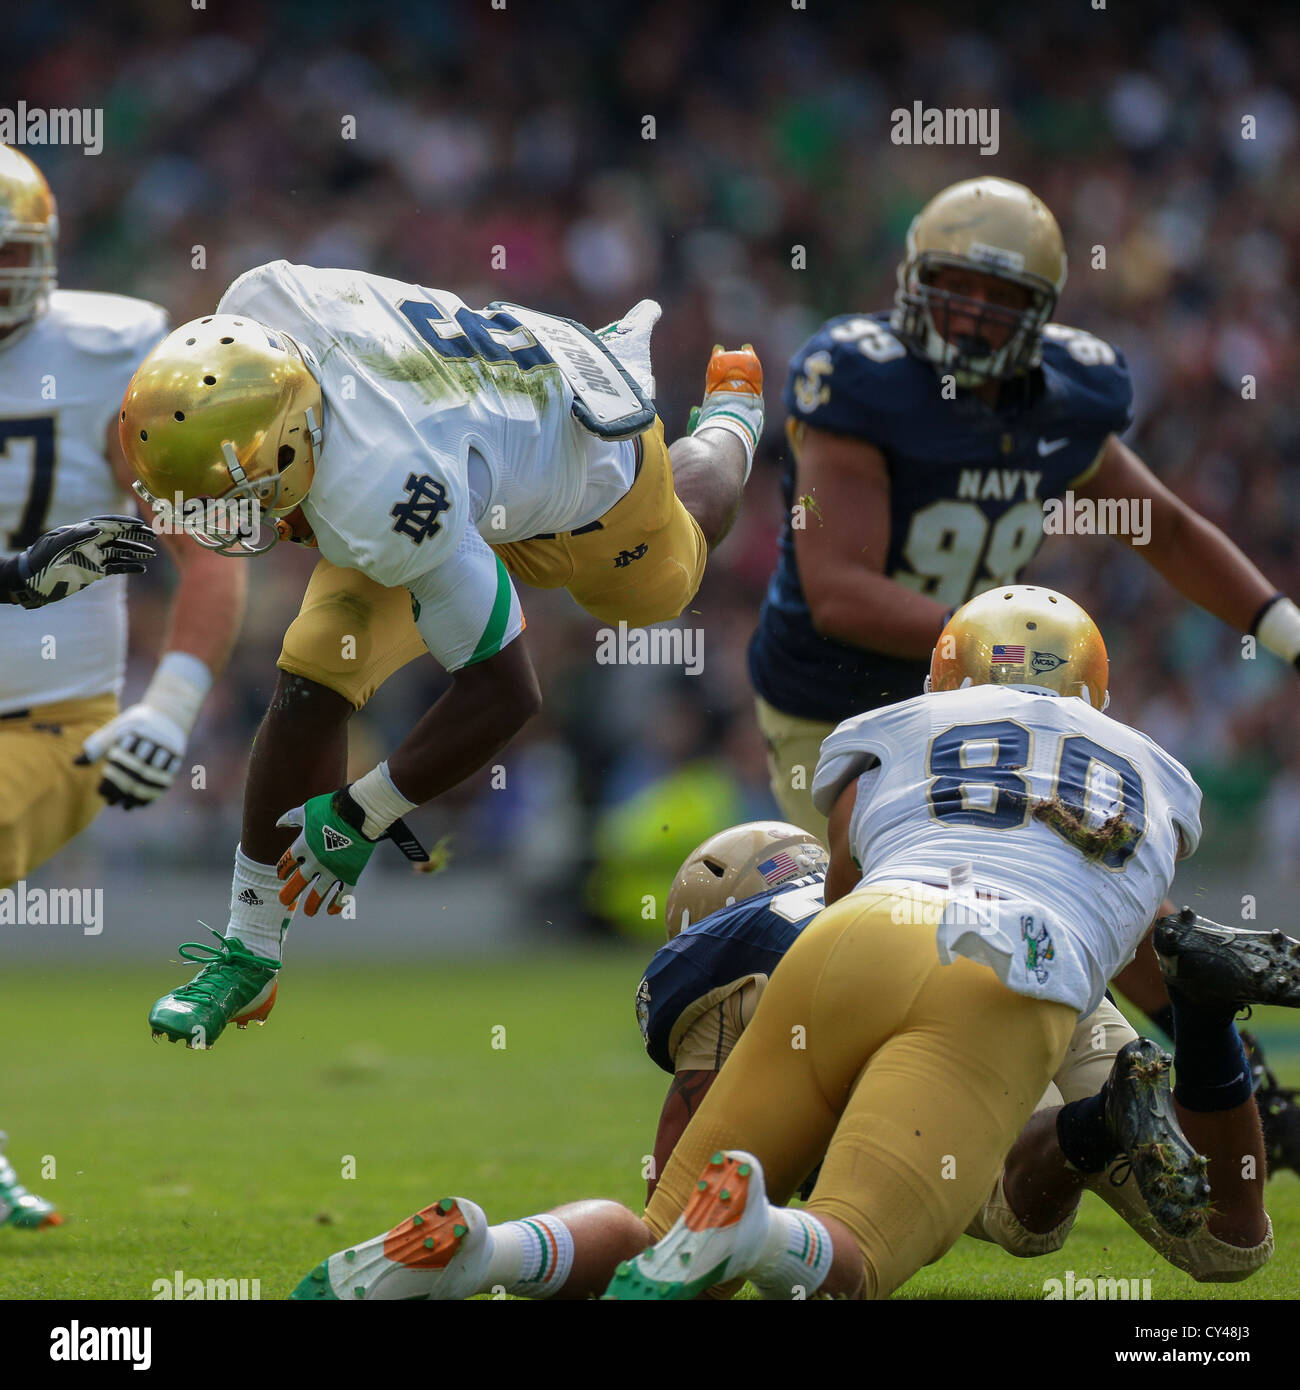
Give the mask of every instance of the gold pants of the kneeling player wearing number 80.
[[[822, 1154], [808, 1202], [862, 1251], [884, 1298], [947, 1251], [1061, 1063], [1076, 1011], [939, 963], [915, 891], [879, 885], [827, 908], [790, 948], [647, 1208], [662, 1237], [709, 1155], [752, 1152], [784, 1204]], [[904, 920], [894, 922], [894, 908]]]

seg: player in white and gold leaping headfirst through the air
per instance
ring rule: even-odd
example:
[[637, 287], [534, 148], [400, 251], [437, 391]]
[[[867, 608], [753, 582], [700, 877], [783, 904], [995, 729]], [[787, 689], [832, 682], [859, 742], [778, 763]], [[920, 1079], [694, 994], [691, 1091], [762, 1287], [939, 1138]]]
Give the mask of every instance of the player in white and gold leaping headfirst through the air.
[[[669, 448], [651, 404], [658, 316], [642, 300], [595, 335], [275, 261], [140, 366], [121, 411], [140, 495], [216, 499], [209, 539], [227, 553], [277, 537], [320, 549], [253, 745], [227, 934], [182, 947], [203, 969], [157, 1001], [154, 1036], [209, 1047], [231, 1020], [263, 1022], [298, 901], [341, 912], [384, 837], [417, 856], [402, 817], [535, 713], [514, 578], [631, 627], [694, 596], [740, 506], [762, 368], [716, 349], [694, 431]], [[275, 527], [234, 525], [241, 503]], [[450, 687], [345, 785], [349, 716], [421, 653]]]

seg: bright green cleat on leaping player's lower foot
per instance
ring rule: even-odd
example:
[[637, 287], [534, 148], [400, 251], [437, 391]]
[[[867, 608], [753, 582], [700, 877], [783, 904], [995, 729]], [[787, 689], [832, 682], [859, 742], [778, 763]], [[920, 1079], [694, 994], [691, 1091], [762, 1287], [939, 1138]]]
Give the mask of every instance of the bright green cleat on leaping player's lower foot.
[[[209, 929], [211, 930], [211, 929]], [[164, 994], [149, 1011], [149, 1026], [156, 1038], [185, 1042], [195, 1049], [210, 1048], [228, 1023], [245, 1029], [266, 1023], [275, 1006], [275, 974], [279, 962], [253, 955], [235, 938], [213, 931], [218, 947], [186, 941], [181, 959], [203, 969], [179, 990]]]

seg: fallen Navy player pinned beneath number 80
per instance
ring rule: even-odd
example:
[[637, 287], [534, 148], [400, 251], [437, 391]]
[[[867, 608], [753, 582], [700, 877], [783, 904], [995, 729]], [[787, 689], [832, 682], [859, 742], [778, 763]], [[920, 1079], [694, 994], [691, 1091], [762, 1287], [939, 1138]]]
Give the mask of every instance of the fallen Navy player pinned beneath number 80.
[[[779, 848], [772, 844], [776, 835], [797, 844], [788, 852], [809, 869], [802, 877], [769, 887], [755, 866], [763, 867], [761, 859], [770, 863], [767, 856]], [[816, 855], [824, 862], [824, 849], [793, 826], [736, 826], [695, 849], [673, 881], [669, 942], [655, 954], [637, 988], [637, 1020], [647, 1052], [673, 1077], [655, 1136], [648, 1197], [653, 1195], [655, 1175], [663, 1170], [691, 1115], [754, 1017], [772, 970], [824, 905], [826, 874], [818, 870]], [[1185, 934], [1185, 927], [1186, 923], [1171, 920], [1161, 929], [1161, 940], [1169, 933]], [[1212, 937], [1200, 934], [1197, 940], [1199, 949], [1204, 949], [1204, 941]], [[1250, 938], [1244, 944], [1229, 940], [1235, 947], [1229, 952], [1230, 970], [1235, 959], [1250, 959], [1253, 947]], [[1169, 951], [1168, 959], [1172, 962], [1176, 955]], [[1250, 988], [1224, 998], [1237, 1006], [1261, 1002]], [[1204, 1227], [1189, 1238], [1168, 1234], [1153, 1218], [1137, 1184], [1119, 1180], [1128, 1158], [1115, 1158], [1101, 1168], [1091, 1162], [1084, 1172], [1076, 1165], [1089, 1159], [1078, 1148], [1072, 1148], [1073, 1162], [1065, 1156], [1059, 1130], [1064, 1127], [1069, 1136], [1075, 1116], [1087, 1115], [1091, 1106], [1071, 1111], [1064, 1120], [1061, 1106], [1100, 1095], [1105, 1108], [1111, 1102], [1108, 1081], [1115, 1059], [1137, 1038], [1107, 998], [1079, 1020], [1064, 1063], [966, 1234], [991, 1240], [1012, 1255], [1059, 1250], [1086, 1186], [1165, 1259], [1199, 1282], [1236, 1282], [1262, 1268], [1274, 1251], [1272, 1227], [1264, 1209], [1262, 1184], [1243, 1176], [1242, 1163], [1247, 1155], [1253, 1155], [1256, 1165], [1260, 1162], [1258, 1115], [1240, 1083], [1208, 1097], [1197, 1086], [1199, 1068], [1204, 1070], [1207, 1048], [1219, 1044], [1221, 1027], [1215, 1024], [1199, 1037], [1201, 1017], [1189, 1015], [1186, 1008], [1182, 1022], [1182, 1042], [1175, 1054], [1179, 1084], [1173, 1093], [1179, 1129], [1211, 1158], [1228, 1155], [1219, 1163], [1211, 1162], [1214, 1207]], [[1235, 1061], [1233, 1052], [1230, 1066]], [[1229, 1104], [1224, 1105], [1225, 1099]], [[1115, 1133], [1105, 1134], [1103, 1143], [1114, 1148]], [[1026, 1222], [1033, 1222], [1033, 1227]]]

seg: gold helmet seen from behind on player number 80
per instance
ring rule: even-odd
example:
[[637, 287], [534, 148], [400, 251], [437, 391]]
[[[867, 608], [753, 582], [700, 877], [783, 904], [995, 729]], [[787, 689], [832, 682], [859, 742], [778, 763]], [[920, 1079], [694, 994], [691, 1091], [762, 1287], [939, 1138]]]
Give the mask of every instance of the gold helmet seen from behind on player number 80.
[[927, 691], [1043, 685], [1105, 709], [1111, 663], [1097, 624], [1064, 594], [1012, 584], [962, 605], [939, 634]]

